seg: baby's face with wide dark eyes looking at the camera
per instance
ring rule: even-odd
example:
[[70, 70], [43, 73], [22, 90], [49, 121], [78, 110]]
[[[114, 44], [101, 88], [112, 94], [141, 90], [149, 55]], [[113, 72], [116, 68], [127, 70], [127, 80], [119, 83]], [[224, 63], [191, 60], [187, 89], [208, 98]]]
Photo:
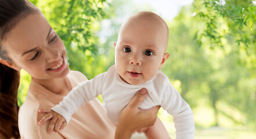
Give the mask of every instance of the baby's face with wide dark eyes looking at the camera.
[[116, 45], [116, 68], [124, 82], [139, 85], [152, 79], [168, 58], [166, 28], [140, 20], [124, 25]]

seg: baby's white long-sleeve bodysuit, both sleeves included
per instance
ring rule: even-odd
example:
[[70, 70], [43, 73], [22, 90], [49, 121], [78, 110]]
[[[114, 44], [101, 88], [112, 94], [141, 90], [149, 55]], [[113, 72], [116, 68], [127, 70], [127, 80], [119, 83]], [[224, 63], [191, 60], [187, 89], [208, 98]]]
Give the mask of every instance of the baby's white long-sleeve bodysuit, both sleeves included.
[[129, 85], [122, 81], [116, 71], [116, 66], [113, 65], [107, 72], [74, 87], [63, 98], [63, 101], [52, 109], [64, 116], [68, 123], [71, 116], [82, 104], [102, 94], [107, 115], [117, 124], [121, 110], [142, 88], [146, 88], [148, 94], [139, 108], [149, 109], [161, 105], [169, 114], [174, 116], [176, 138], [194, 138], [193, 112], [161, 70], [146, 83]]

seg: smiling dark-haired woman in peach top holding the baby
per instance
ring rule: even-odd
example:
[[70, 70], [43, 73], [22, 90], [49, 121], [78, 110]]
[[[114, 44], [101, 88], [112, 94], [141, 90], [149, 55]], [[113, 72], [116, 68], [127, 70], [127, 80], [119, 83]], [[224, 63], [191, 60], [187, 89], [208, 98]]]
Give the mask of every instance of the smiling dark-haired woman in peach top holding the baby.
[[[62, 131], [48, 134], [49, 123], [37, 124], [45, 115], [38, 109], [53, 107], [86, 77], [70, 71], [62, 40], [28, 0], [0, 0], [0, 36], [0, 138], [130, 138], [134, 131], [154, 124], [159, 107], [138, 109], [146, 96], [143, 89], [123, 109], [117, 127], [95, 99], [78, 109]], [[20, 69], [31, 75], [31, 84], [19, 109]]]

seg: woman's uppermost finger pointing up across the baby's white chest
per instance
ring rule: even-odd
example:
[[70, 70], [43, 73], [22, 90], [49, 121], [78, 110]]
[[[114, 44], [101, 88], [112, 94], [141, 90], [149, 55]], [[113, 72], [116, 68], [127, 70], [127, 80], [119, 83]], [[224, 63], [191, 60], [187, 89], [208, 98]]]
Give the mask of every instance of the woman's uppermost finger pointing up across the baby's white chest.
[[143, 88], [140, 89], [135, 96], [132, 98], [132, 100], [128, 103], [128, 107], [132, 108], [138, 108], [140, 103], [146, 98], [147, 89]]

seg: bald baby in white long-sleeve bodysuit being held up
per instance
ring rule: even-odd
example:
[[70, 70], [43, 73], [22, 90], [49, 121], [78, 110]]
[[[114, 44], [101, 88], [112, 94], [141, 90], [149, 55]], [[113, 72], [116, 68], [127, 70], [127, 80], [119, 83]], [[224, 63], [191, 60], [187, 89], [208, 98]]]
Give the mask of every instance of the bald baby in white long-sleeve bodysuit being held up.
[[[57, 122], [68, 123], [82, 104], [102, 94], [107, 115], [118, 123], [121, 110], [138, 90], [146, 88], [147, 97], [139, 108], [160, 105], [174, 116], [176, 138], [194, 138], [193, 112], [160, 70], [170, 55], [166, 53], [168, 36], [167, 24], [155, 13], [138, 12], [125, 20], [114, 44], [116, 64], [107, 72], [80, 83], [53, 107], [52, 113], [62, 115]], [[42, 124], [42, 120], [39, 123]]]

